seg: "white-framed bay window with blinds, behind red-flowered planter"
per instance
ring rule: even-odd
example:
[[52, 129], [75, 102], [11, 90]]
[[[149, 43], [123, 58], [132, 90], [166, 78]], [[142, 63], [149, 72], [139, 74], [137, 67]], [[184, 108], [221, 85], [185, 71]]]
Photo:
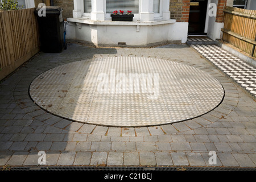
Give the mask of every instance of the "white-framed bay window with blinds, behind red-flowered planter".
[[170, 19], [170, 0], [74, 0], [73, 17], [92, 20], [110, 20], [110, 14], [119, 10], [132, 11], [134, 20], [152, 21]]

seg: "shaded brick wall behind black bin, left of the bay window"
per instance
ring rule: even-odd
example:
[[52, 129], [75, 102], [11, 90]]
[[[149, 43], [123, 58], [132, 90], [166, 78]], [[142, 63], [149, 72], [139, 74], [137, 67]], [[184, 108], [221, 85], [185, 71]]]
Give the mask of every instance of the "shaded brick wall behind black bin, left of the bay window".
[[[35, 0], [35, 6], [37, 7], [39, 3], [42, 3], [43, 0]], [[44, 3], [46, 3], [46, 0], [44, 0]], [[73, 17], [73, 9], [74, 9], [74, 3], [73, 0], [53, 0], [54, 6], [60, 6], [63, 8], [63, 19], [71, 18]]]

